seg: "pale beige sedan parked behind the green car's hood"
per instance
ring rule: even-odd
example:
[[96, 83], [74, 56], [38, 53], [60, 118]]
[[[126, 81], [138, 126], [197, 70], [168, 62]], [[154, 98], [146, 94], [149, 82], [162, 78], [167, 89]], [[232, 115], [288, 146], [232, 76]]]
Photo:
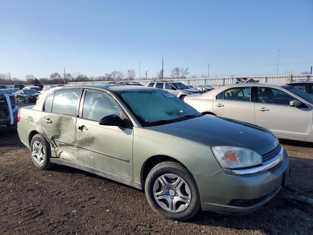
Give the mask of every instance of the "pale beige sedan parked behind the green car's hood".
[[227, 85], [184, 101], [202, 114], [264, 126], [281, 139], [313, 142], [313, 95], [288, 85]]

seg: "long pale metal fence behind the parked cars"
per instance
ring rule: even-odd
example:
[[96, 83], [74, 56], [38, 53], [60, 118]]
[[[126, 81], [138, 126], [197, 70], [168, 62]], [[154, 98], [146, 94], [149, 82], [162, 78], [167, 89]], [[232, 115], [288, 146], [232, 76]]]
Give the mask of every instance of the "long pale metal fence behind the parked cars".
[[[182, 79], [164, 79], [167, 81], [182, 82], [186, 85], [210, 85], [212, 87], [221, 87], [228, 84], [236, 83], [238, 78], [253, 79], [263, 83], [272, 84], [286, 84], [290, 82], [313, 82], [313, 74], [300, 75], [268, 75], [268, 76], [226, 76], [226, 77], [196, 77], [196, 78], [182, 78]], [[120, 82], [139, 82], [143, 85], [154, 81], [155, 79], [140, 79], [140, 80], [121, 80]], [[69, 82], [69, 85], [101, 85], [109, 83], [110, 81], [88, 81], [88, 82]]]

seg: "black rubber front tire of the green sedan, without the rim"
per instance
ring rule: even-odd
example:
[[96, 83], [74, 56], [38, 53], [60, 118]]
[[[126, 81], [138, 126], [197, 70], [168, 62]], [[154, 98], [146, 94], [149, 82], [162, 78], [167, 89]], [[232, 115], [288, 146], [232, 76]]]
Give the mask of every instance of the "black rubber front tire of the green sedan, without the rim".
[[[153, 187], [158, 179], [163, 174], [176, 174], [181, 177], [190, 187], [192, 199], [188, 208], [181, 212], [170, 212], [162, 209], [156, 202], [154, 197]], [[148, 174], [145, 182], [145, 193], [150, 206], [160, 215], [175, 220], [187, 220], [193, 217], [200, 209], [200, 193], [192, 174], [183, 167], [182, 164], [164, 162], [157, 164]]]

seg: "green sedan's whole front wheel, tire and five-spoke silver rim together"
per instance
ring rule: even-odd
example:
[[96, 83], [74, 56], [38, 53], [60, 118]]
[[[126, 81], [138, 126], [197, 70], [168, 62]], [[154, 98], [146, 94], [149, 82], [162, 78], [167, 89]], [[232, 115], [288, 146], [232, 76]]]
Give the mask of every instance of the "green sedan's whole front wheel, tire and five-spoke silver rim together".
[[[175, 181], [174, 176], [179, 178]], [[174, 182], [174, 188], [169, 187], [170, 190], [164, 187], [168, 185], [168, 180]], [[162, 184], [161, 181], [166, 183]], [[155, 193], [158, 194], [156, 197]], [[192, 174], [179, 163], [163, 162], [153, 167], [145, 182], [145, 194], [153, 210], [168, 219], [187, 220], [196, 215], [201, 207], [197, 183]], [[170, 202], [174, 202], [173, 206], [170, 206]]]

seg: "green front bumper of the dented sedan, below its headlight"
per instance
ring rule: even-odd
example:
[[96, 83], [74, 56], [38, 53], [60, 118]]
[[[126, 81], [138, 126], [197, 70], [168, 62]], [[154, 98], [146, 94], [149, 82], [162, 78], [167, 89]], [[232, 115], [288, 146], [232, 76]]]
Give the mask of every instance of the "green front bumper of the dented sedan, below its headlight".
[[289, 175], [290, 166], [287, 152], [283, 155], [281, 164], [253, 174], [231, 175], [223, 169], [213, 175], [193, 174], [202, 209], [248, 213], [266, 204], [286, 184], [285, 175]]

